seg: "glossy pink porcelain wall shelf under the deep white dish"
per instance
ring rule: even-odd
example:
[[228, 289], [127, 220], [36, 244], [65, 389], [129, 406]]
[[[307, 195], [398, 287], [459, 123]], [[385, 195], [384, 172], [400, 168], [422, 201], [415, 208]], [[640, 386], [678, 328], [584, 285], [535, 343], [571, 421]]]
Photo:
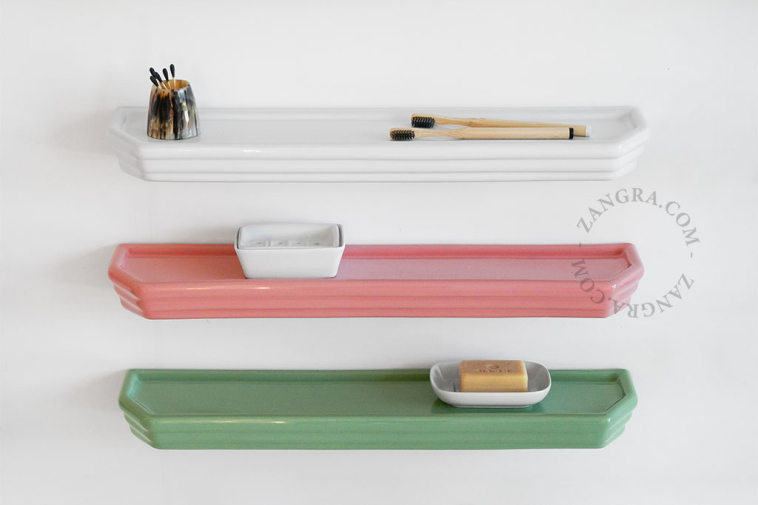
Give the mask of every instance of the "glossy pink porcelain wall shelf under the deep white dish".
[[108, 269], [148, 319], [608, 317], [642, 273], [632, 244], [354, 245], [331, 279], [246, 279], [232, 245], [122, 244]]

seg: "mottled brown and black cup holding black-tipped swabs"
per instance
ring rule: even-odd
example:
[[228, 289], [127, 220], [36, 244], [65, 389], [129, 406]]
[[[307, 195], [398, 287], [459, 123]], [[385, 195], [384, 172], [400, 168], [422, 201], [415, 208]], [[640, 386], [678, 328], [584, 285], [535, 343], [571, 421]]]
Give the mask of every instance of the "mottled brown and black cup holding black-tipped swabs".
[[176, 89], [153, 86], [147, 112], [147, 135], [154, 139], [181, 140], [200, 133], [195, 95], [188, 81], [171, 81]]

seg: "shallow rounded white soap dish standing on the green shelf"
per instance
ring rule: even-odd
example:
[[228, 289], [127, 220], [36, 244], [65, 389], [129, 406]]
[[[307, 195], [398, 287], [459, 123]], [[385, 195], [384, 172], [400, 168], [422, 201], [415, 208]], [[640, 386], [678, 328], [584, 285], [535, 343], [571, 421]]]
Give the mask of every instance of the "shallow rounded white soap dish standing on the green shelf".
[[545, 399], [550, 392], [550, 372], [539, 363], [524, 361], [529, 380], [525, 393], [464, 393], [460, 389], [460, 361], [443, 361], [429, 371], [437, 398], [454, 407], [525, 408]]

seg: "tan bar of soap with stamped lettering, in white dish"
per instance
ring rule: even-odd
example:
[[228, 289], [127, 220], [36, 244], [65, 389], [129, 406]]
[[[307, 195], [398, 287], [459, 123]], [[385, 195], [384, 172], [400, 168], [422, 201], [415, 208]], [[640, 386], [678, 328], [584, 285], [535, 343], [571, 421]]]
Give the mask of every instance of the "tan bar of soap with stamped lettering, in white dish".
[[529, 378], [523, 361], [461, 361], [461, 391], [465, 393], [525, 393]]

